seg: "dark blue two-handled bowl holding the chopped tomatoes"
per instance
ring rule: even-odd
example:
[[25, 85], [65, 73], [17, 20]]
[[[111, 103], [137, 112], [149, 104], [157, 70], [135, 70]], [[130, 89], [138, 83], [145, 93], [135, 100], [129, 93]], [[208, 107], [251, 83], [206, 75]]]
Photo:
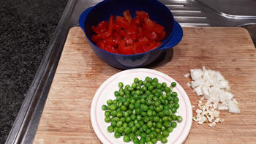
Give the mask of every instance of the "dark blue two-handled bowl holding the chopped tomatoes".
[[[129, 10], [132, 18], [135, 17], [136, 10], [146, 11], [148, 12], [151, 20], [154, 20], [164, 26], [166, 36], [162, 41], [162, 45], [145, 53], [134, 55], [109, 53], [108, 51], [97, 47], [97, 45], [95, 45], [91, 40], [91, 37], [94, 34], [91, 26], [97, 26], [97, 23], [102, 20], [108, 20], [111, 14], [123, 15], [125, 10]], [[118, 69], [145, 67], [146, 65], [151, 64], [159, 58], [162, 52], [177, 45], [183, 36], [181, 26], [173, 19], [173, 14], [164, 4], [157, 0], [101, 1], [97, 5], [89, 7], [87, 10], [82, 12], [79, 18], [79, 25], [86, 34], [86, 38], [88, 39], [92, 50], [94, 50], [94, 53], [101, 58], [102, 61], [105, 61], [110, 66]]]

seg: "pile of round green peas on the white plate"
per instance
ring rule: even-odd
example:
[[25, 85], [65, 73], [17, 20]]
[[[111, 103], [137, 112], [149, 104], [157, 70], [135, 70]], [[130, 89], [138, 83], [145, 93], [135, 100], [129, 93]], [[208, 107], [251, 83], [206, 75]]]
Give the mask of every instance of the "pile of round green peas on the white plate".
[[[108, 132], [114, 137], [123, 137], [124, 142], [133, 143], [167, 143], [167, 137], [177, 122], [182, 121], [178, 110], [178, 94], [173, 91], [176, 83], [159, 83], [156, 77], [137, 77], [131, 86], [118, 83], [115, 100], [108, 99], [105, 110], [105, 122], [110, 123]], [[140, 139], [139, 139], [140, 137]]]

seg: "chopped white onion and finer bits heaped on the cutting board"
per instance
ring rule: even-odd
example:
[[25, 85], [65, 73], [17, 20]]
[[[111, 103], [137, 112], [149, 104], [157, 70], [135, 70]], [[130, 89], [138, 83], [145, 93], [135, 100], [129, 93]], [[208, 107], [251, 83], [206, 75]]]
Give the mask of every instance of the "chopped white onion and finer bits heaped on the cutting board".
[[[224, 119], [219, 118], [218, 110], [228, 110], [229, 113], [240, 113], [238, 102], [233, 94], [229, 92], [230, 86], [225, 77], [220, 72], [206, 69], [190, 69], [192, 82], [187, 83], [191, 86], [197, 96], [202, 96], [198, 102], [197, 115], [193, 118], [198, 124], [210, 122], [208, 126], [215, 126]], [[188, 77], [189, 74], [184, 75]], [[206, 99], [207, 102], [202, 101]], [[218, 110], [217, 110], [218, 109]]]

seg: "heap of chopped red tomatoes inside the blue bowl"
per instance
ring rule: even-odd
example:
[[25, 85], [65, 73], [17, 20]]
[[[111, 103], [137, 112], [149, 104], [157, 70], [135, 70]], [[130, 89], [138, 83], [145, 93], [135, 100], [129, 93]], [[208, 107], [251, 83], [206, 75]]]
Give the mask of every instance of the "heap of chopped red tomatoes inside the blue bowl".
[[124, 17], [110, 15], [108, 21], [103, 20], [97, 26], [91, 26], [95, 34], [92, 41], [102, 50], [118, 54], [145, 53], [157, 48], [165, 39], [163, 26], [149, 19], [147, 12], [136, 11], [132, 18], [129, 10], [123, 12]]

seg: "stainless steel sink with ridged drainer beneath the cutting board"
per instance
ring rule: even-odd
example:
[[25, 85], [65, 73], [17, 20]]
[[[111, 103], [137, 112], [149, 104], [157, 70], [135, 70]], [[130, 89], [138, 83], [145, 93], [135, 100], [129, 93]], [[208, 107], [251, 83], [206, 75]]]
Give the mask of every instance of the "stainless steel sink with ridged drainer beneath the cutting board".
[[[240, 26], [256, 44], [255, 0], [159, 0], [173, 12], [181, 26]], [[69, 0], [42, 59], [6, 143], [32, 143], [61, 51], [72, 26], [78, 26], [81, 12], [99, 0]]]

